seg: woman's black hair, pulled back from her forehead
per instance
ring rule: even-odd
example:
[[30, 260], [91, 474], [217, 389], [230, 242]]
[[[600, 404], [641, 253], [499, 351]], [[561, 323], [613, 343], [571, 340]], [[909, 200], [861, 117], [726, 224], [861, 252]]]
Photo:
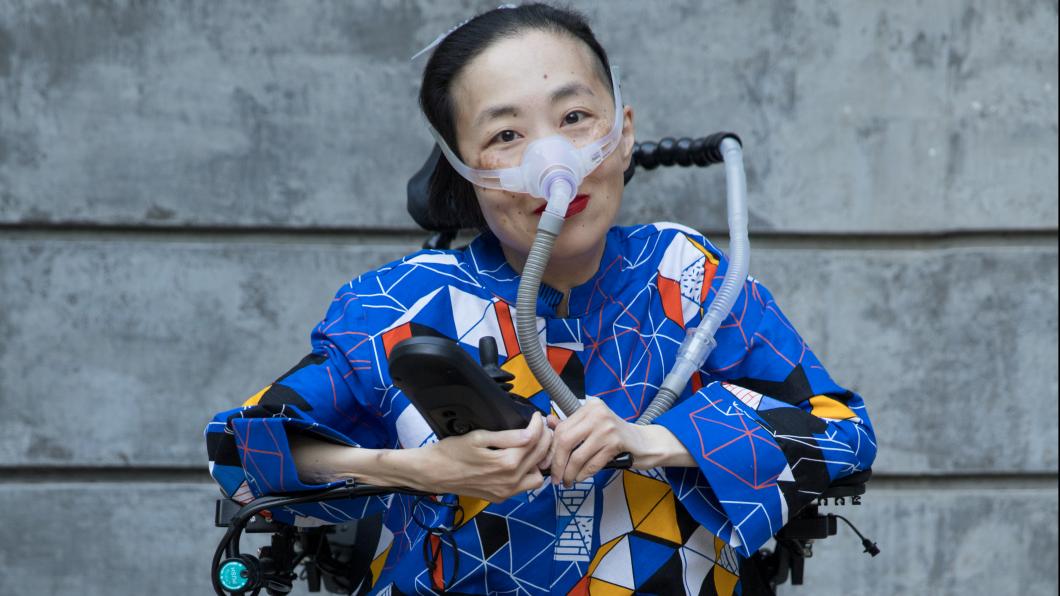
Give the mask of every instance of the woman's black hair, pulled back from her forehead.
[[[495, 41], [533, 30], [569, 35], [583, 41], [599, 58], [598, 74], [611, 90], [607, 53], [593, 35], [585, 17], [577, 11], [535, 2], [482, 13], [459, 27], [435, 48], [423, 69], [420, 86], [420, 109], [457, 155], [460, 151], [457, 147], [450, 95], [453, 81], [467, 63]], [[445, 227], [487, 228], [474, 188], [449, 165], [444, 156], [438, 158], [430, 176], [427, 205], [430, 217]]]

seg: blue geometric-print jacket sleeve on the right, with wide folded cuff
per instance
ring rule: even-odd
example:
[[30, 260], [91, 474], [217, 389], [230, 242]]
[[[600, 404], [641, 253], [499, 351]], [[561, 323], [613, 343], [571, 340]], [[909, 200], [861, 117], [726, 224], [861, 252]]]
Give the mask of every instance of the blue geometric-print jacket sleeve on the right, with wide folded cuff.
[[[727, 266], [717, 257], [711, 296]], [[861, 396], [832, 381], [757, 280], [717, 338], [691, 390], [655, 423], [699, 466], [666, 470], [674, 494], [749, 557], [834, 479], [868, 469], [876, 436]]]

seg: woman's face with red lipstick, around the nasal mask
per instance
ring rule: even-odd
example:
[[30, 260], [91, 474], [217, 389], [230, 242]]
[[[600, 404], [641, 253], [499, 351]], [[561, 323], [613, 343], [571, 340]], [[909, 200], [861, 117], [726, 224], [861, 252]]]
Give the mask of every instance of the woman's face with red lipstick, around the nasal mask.
[[[564, 135], [575, 146], [600, 139], [615, 123], [615, 100], [599, 62], [578, 39], [529, 31], [501, 39], [453, 82], [457, 147], [472, 168], [518, 165], [532, 141]], [[622, 199], [622, 174], [633, 154], [633, 110], [622, 112], [618, 147], [578, 188], [553, 260], [597, 259]], [[482, 215], [506, 256], [530, 251], [545, 199], [475, 187]]]

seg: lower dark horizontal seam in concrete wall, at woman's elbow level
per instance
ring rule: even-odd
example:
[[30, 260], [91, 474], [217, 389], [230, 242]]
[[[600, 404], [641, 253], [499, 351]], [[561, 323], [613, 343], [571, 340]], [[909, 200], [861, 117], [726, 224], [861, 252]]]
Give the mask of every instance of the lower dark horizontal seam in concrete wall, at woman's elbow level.
[[[869, 487], [880, 489], [1005, 489], [1005, 488], [1057, 488], [1060, 476], [1056, 472], [979, 473], [979, 474], [877, 474]], [[181, 466], [154, 466], [127, 468], [117, 466], [48, 466], [0, 467], [0, 485], [37, 483], [212, 483], [210, 473], [201, 468]]]

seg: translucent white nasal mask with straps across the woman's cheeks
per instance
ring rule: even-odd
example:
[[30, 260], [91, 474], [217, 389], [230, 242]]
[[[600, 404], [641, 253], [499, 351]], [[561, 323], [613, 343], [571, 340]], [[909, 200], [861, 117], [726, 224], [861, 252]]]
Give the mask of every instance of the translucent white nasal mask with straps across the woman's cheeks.
[[543, 137], [527, 146], [523, 154], [523, 163], [513, 168], [500, 170], [471, 168], [457, 157], [434, 126], [429, 123], [427, 126], [449, 165], [469, 182], [487, 189], [528, 193], [548, 200], [545, 213], [542, 214], [542, 225], [555, 228], [553, 233], [559, 233], [567, 213], [567, 206], [578, 187], [615, 151], [622, 137], [622, 97], [619, 92], [618, 73], [618, 67], [612, 67], [615, 123], [603, 138], [585, 146], [576, 147], [563, 135]]

